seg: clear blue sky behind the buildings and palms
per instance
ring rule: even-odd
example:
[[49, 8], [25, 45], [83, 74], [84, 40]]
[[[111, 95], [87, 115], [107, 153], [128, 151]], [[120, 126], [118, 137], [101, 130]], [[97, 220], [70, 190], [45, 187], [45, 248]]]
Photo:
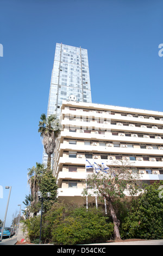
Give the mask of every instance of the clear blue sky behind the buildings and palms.
[[[1, 0], [0, 9], [0, 185], [12, 186], [10, 225], [29, 194], [27, 169], [42, 161], [37, 129], [47, 112], [55, 44], [88, 50], [92, 102], [163, 111], [163, 2]], [[9, 190], [3, 192], [1, 220]]]

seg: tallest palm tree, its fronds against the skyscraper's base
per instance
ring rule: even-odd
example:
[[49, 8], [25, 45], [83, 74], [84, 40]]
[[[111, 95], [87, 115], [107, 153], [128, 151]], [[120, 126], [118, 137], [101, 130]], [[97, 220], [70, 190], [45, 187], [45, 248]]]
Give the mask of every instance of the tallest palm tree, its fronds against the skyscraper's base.
[[45, 152], [48, 155], [47, 171], [51, 170], [51, 155], [55, 149], [55, 139], [60, 133], [59, 119], [56, 115], [49, 115], [46, 118], [45, 114], [42, 114], [39, 121], [40, 136], [43, 138], [43, 146]]

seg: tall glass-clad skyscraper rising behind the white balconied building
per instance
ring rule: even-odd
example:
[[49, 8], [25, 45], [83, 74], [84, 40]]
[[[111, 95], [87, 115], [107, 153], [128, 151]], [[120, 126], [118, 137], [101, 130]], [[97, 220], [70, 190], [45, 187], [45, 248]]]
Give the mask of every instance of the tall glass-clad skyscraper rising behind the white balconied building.
[[[62, 100], [68, 99], [92, 102], [87, 50], [56, 44], [47, 116], [59, 116]], [[44, 152], [43, 163], [47, 163]]]

